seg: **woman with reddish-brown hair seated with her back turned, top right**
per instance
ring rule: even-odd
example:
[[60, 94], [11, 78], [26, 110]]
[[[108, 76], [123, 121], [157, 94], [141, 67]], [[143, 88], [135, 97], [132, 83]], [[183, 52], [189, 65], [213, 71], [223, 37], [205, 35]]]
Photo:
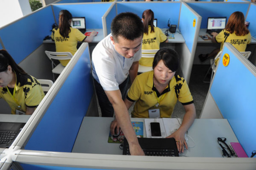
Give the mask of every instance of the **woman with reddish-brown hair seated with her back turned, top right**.
[[244, 24], [244, 15], [240, 11], [232, 13], [227, 21], [225, 29], [219, 34], [211, 33], [212, 42], [221, 43], [220, 49], [214, 49], [210, 54], [200, 54], [201, 62], [214, 58], [223, 48], [224, 42], [230, 42], [238, 51], [244, 52], [247, 44], [251, 43], [251, 34]]

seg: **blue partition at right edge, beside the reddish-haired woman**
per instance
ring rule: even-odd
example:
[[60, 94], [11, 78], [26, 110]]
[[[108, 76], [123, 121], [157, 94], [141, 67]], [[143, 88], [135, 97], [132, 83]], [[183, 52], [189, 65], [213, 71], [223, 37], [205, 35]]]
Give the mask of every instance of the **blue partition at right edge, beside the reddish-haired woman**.
[[256, 22], [255, 22], [255, 16], [256, 16], [256, 4], [251, 3], [249, 7], [249, 11], [246, 16], [246, 21], [249, 21], [249, 31], [251, 33], [251, 36], [256, 38]]

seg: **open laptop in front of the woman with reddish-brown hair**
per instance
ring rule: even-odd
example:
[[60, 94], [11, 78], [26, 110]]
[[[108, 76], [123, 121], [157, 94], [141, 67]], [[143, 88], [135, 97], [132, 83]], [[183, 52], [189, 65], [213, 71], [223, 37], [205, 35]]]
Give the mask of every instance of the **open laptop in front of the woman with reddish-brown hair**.
[[208, 17], [207, 33], [220, 33], [226, 26], [226, 17]]

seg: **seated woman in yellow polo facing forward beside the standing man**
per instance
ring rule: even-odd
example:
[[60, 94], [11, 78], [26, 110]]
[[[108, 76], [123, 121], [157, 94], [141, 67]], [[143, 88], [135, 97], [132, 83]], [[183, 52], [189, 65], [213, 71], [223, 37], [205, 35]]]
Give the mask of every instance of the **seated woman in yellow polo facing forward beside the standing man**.
[[[184, 78], [176, 75], [179, 67], [179, 58], [173, 49], [160, 49], [153, 61], [153, 70], [138, 75], [125, 98], [127, 109], [135, 103], [131, 112], [132, 118], [171, 118], [177, 100], [185, 109], [185, 115], [181, 126], [168, 137], [174, 137], [179, 152], [184, 151], [185, 133], [196, 118], [194, 101], [187, 82]], [[111, 124], [112, 134], [117, 129], [119, 122], [114, 120]]]

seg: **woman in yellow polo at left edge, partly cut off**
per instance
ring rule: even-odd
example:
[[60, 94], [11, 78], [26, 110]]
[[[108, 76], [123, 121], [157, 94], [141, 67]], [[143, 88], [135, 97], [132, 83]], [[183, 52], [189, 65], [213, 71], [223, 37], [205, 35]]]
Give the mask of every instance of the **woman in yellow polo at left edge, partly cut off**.
[[0, 98], [7, 101], [12, 114], [33, 114], [44, 92], [39, 82], [28, 75], [10, 56], [0, 50]]

